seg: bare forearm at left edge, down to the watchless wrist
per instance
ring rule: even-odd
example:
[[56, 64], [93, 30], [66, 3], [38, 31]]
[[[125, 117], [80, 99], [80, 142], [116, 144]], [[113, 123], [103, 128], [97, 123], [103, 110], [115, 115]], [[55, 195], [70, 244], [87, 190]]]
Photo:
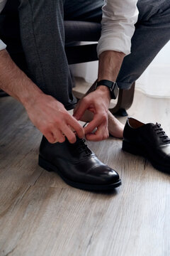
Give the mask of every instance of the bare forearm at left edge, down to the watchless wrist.
[[42, 94], [38, 86], [11, 60], [6, 50], [0, 51], [0, 88], [25, 106]]

